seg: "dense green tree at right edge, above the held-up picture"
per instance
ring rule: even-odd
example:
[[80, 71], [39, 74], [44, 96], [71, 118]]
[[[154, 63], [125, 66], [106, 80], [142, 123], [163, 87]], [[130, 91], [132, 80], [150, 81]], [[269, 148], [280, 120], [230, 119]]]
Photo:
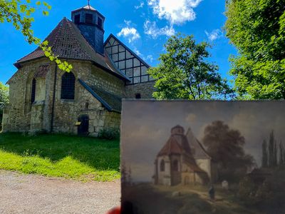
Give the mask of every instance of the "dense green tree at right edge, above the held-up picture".
[[285, 98], [285, 1], [227, 0], [227, 37], [239, 98]]

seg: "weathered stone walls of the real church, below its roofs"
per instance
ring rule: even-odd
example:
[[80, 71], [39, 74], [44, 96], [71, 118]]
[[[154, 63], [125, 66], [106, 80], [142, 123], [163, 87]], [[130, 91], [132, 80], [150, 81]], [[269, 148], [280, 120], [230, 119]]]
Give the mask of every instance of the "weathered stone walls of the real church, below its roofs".
[[[54, 132], [76, 134], [78, 132], [76, 122], [82, 115], [88, 116], [89, 132], [93, 136], [97, 136], [105, 128], [120, 128], [120, 113], [107, 111], [86, 88], [81, 86], [78, 78], [123, 98], [135, 98], [135, 93], [140, 93], [141, 98], [152, 98], [154, 82], [125, 86], [124, 81], [89, 61], [68, 61], [68, 63], [72, 64], [72, 72], [76, 76], [74, 100], [61, 99], [61, 77], [65, 72], [59, 69], [56, 72], [55, 63], [48, 61], [47, 58], [23, 63], [22, 68], [9, 81], [10, 105], [4, 111], [4, 131], [51, 131], [53, 127]], [[36, 78], [36, 100], [31, 103], [33, 77], [39, 66], [44, 64], [49, 64], [49, 70], [45, 76]], [[56, 93], [53, 114], [54, 87]], [[53, 124], [51, 124], [52, 115]]]

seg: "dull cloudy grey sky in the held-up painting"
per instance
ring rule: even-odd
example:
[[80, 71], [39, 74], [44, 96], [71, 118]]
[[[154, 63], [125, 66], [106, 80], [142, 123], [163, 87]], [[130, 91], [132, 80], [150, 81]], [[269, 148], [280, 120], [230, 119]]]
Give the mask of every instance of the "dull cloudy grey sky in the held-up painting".
[[285, 102], [124, 101], [122, 158], [134, 181], [150, 181], [157, 153], [176, 125], [202, 142], [204, 128], [224, 121], [245, 138], [244, 150], [261, 163], [261, 143], [274, 130], [277, 142], [285, 140]]

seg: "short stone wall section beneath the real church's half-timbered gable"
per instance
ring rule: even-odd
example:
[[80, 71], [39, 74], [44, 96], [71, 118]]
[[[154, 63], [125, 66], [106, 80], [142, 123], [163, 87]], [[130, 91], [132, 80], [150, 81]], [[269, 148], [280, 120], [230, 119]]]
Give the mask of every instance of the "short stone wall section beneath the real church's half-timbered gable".
[[152, 93], [155, 91], [154, 85], [155, 81], [150, 81], [125, 86], [124, 98], [135, 98], [135, 94], [137, 93], [140, 93], [142, 99], [153, 98]]

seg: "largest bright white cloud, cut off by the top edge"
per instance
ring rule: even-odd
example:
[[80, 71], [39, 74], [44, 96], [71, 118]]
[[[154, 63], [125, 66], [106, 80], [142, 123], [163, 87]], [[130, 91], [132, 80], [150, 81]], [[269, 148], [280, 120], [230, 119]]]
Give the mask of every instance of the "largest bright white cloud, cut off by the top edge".
[[167, 19], [170, 24], [183, 24], [196, 19], [194, 8], [202, 0], [148, 0], [153, 14], [160, 19]]

